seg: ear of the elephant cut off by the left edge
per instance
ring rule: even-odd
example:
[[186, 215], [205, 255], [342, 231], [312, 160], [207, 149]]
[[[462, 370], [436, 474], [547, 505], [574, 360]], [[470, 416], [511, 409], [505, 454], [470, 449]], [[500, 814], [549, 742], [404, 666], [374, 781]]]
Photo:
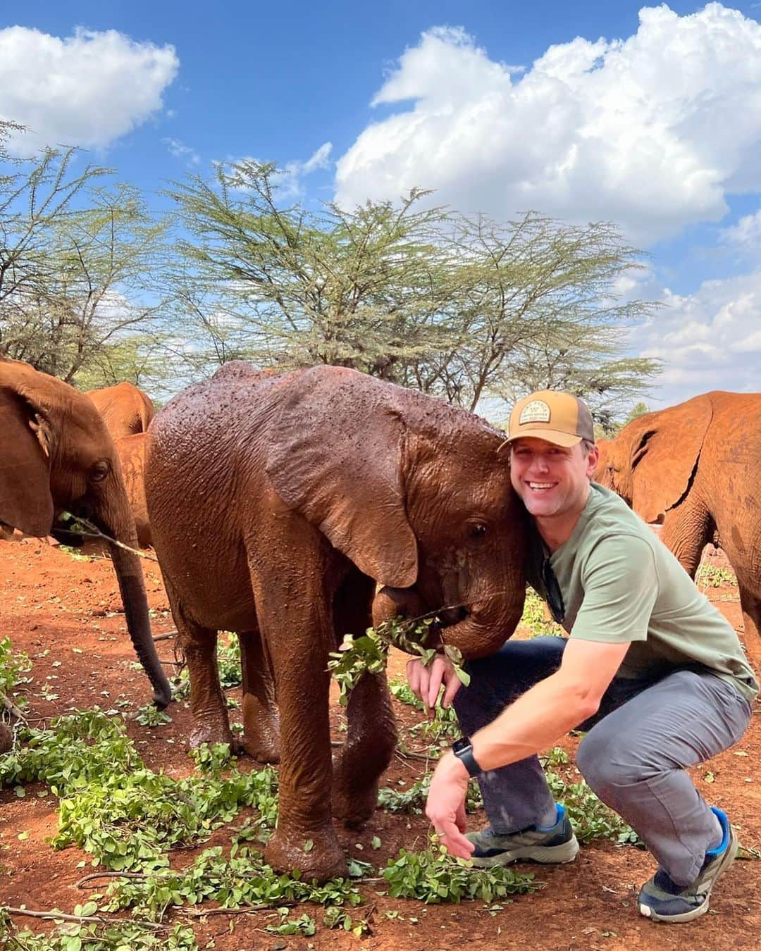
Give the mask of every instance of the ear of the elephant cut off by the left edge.
[[53, 520], [47, 424], [5, 378], [0, 378], [0, 521], [44, 537]]

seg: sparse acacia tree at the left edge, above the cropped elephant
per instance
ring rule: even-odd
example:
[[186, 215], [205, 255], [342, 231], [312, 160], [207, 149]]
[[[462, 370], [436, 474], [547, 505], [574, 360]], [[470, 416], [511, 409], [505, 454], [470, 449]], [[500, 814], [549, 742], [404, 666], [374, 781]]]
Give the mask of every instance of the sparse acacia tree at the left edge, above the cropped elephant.
[[45, 150], [0, 178], [0, 350], [71, 382], [151, 340], [166, 225], [135, 189], [75, 173], [75, 149]]

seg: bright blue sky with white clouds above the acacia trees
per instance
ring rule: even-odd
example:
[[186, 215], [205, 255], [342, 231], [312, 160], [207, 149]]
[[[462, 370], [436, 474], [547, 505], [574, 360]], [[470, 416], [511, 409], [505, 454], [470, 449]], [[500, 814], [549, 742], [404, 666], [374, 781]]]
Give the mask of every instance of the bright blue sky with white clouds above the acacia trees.
[[149, 191], [252, 156], [306, 204], [613, 220], [651, 254], [622, 293], [667, 305], [631, 339], [668, 363], [653, 405], [759, 390], [761, 3], [641, 8], [31, 2], [0, 116]]

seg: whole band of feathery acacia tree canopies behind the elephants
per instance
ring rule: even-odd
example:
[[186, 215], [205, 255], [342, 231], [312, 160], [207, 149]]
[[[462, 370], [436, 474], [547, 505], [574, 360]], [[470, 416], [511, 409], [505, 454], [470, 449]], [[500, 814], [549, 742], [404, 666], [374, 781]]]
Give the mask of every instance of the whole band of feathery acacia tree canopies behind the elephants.
[[229, 359], [333, 363], [492, 417], [563, 388], [610, 425], [658, 369], [626, 351], [654, 304], [616, 293], [642, 264], [611, 223], [497, 223], [420, 189], [287, 204], [257, 162], [172, 184], [160, 215], [76, 150], [19, 161], [3, 141], [0, 352], [77, 385], [162, 397]]

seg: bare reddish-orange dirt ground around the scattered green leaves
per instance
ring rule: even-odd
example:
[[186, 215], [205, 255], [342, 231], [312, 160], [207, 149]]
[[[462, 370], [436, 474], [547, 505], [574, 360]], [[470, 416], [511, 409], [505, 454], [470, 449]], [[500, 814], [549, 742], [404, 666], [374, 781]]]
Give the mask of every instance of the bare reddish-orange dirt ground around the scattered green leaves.
[[[714, 563], [726, 565], [721, 553], [710, 557]], [[144, 564], [154, 633], [170, 631], [173, 626], [158, 567], [147, 561]], [[710, 589], [709, 594], [735, 630], [741, 631], [736, 588], [722, 586]], [[147, 681], [140, 671], [132, 670], [135, 658], [107, 558], [78, 561], [37, 539], [0, 540], [0, 605], [0, 637], [9, 635], [14, 649], [26, 651], [33, 662], [33, 680], [28, 687], [30, 720], [45, 719], [70, 708], [96, 704], [108, 708], [120, 700], [129, 702], [124, 708], [128, 717], [146, 704]], [[159, 649], [169, 663], [173, 659], [172, 642], [160, 643]], [[60, 666], [54, 667], [54, 662], [60, 662]], [[401, 674], [403, 662], [403, 656], [394, 656], [391, 673]], [[233, 695], [238, 692], [232, 691]], [[182, 703], [173, 705], [170, 712], [171, 724], [147, 728], [132, 721], [129, 734], [148, 767], [163, 767], [170, 775], [180, 776], [192, 768], [185, 755], [189, 711]], [[414, 716], [409, 708], [400, 708], [400, 713], [407, 724]], [[340, 738], [340, 733], [335, 736]], [[575, 741], [568, 738], [563, 746], [573, 753]], [[748, 755], [736, 755], [738, 752]], [[748, 733], [737, 747], [716, 757], [710, 767], [693, 770], [697, 786], [707, 799], [730, 813], [742, 843], [751, 848], [761, 846], [759, 752], [761, 722], [753, 716]], [[409, 786], [419, 778], [421, 767], [420, 762], [396, 757], [381, 785]], [[709, 769], [713, 777], [710, 785], [704, 779]], [[42, 786], [30, 784], [25, 799], [17, 799], [10, 789], [0, 791], [0, 904], [18, 906], [26, 902], [29, 908], [71, 911], [76, 903], [86, 900], [87, 893], [78, 890], [76, 883], [87, 869], [76, 866], [88, 857], [76, 848], [53, 851], [45, 841], [56, 830], [56, 804]], [[483, 817], [472, 816], [470, 822], [478, 827]], [[382, 866], [396, 855], [400, 845], [423, 847], [426, 830], [422, 816], [404, 817], [379, 810], [361, 833], [341, 829], [339, 835], [347, 853]], [[29, 838], [19, 840], [22, 832], [28, 832]], [[375, 836], [382, 843], [377, 851], [370, 844]], [[358, 844], [363, 846], [361, 851]], [[185, 864], [185, 853], [182, 861]], [[322, 912], [311, 905], [294, 909], [291, 915], [298, 917], [307, 911], [317, 919], [318, 932], [310, 939], [280, 938], [263, 931], [265, 925], [277, 922], [277, 916], [270, 912], [231, 919], [226, 915], [210, 917], [195, 925], [196, 934], [200, 947], [213, 946], [219, 951], [252, 947], [434, 951], [465, 943], [478, 943], [482, 948], [607, 951], [704, 946], [719, 951], [759, 945], [758, 862], [735, 863], [718, 886], [711, 912], [699, 922], [683, 926], [657, 925], [637, 915], [636, 890], [653, 871], [649, 855], [637, 849], [618, 848], [608, 842], [591, 844], [582, 848], [573, 865], [524, 866], [523, 870], [537, 872], [537, 878], [547, 883], [546, 888], [535, 895], [518, 896], [513, 902], [501, 902], [504, 910], [497, 914], [490, 914], [482, 902], [425, 906], [392, 901], [376, 895], [373, 888], [382, 887], [376, 883], [361, 886], [367, 897], [366, 908], [375, 906], [373, 933], [362, 939], [322, 927]], [[389, 911], [397, 911], [398, 917], [388, 919]], [[42, 922], [21, 917], [14, 920], [20, 928], [47, 930]]]

